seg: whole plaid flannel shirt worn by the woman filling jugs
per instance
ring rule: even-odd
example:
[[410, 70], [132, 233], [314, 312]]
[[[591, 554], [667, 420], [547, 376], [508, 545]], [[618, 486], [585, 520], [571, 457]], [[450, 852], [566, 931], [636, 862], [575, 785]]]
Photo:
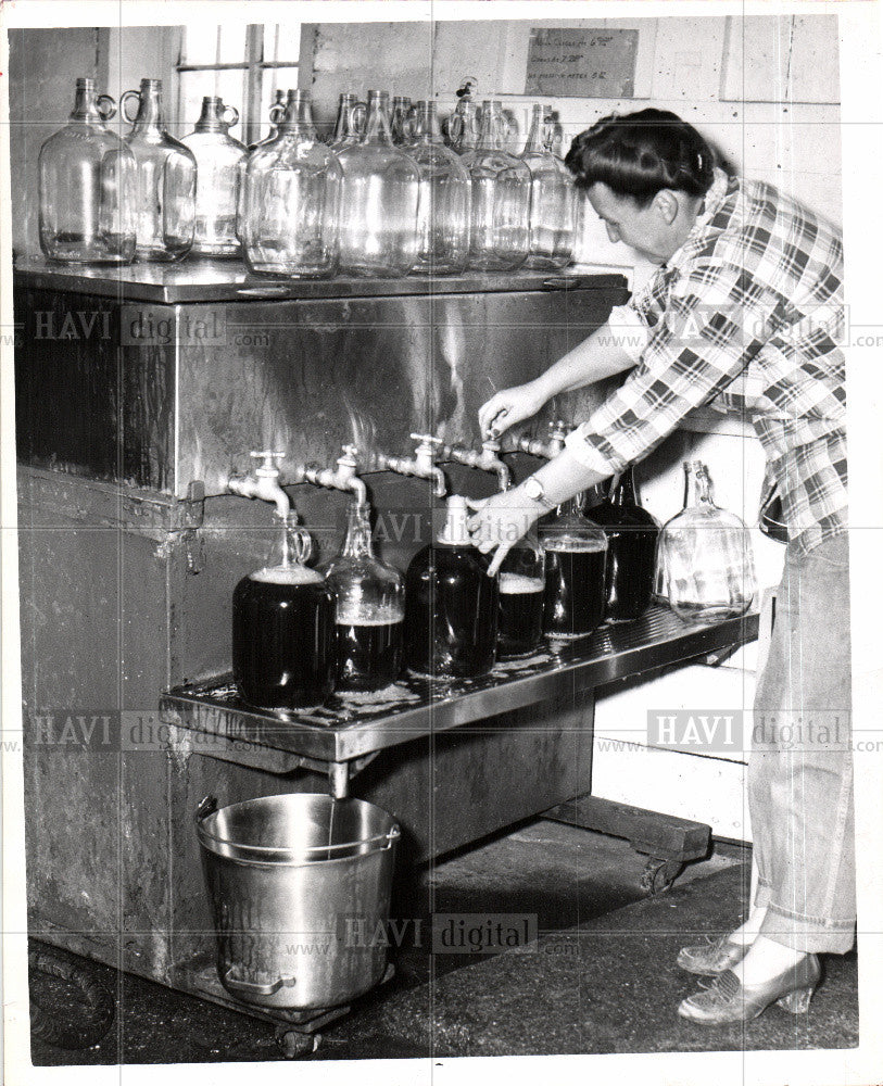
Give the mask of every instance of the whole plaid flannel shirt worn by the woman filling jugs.
[[832, 226], [718, 169], [684, 244], [610, 325], [642, 345], [622, 387], [567, 440], [583, 464], [622, 471], [711, 404], [752, 418], [767, 456], [761, 508], [778, 488], [799, 552], [846, 530], [843, 247]]

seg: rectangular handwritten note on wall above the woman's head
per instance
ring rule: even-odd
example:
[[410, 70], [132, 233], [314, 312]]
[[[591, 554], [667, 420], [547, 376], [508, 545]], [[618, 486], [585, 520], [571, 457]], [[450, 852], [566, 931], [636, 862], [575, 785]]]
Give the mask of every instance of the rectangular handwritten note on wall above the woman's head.
[[534, 27], [526, 94], [633, 98], [639, 30]]

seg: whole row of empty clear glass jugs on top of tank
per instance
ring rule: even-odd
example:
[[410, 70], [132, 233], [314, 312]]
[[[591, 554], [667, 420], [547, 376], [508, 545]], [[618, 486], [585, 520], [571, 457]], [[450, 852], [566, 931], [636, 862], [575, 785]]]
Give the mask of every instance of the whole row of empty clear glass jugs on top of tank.
[[162, 84], [142, 79], [121, 108], [138, 102], [121, 140], [106, 126], [113, 100], [78, 79], [68, 124], [42, 146], [40, 245], [67, 263], [244, 256], [261, 275], [328, 278], [338, 273], [399, 277], [467, 267], [514, 272], [570, 263], [577, 198], [546, 149], [534, 105], [521, 155], [505, 150], [500, 103], [452, 117], [445, 144], [436, 102], [419, 102], [395, 130], [389, 96], [369, 91], [366, 116], [342, 94], [336, 138], [323, 143], [310, 96], [288, 92], [275, 131], [247, 148], [229, 135], [238, 121], [216, 97], [203, 99], [193, 132], [164, 127]]

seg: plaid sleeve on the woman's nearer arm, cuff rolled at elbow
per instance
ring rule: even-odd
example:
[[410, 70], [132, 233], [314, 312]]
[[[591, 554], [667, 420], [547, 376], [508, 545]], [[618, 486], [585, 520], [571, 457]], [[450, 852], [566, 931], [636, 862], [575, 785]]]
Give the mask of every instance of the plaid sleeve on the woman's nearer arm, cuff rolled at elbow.
[[594, 471], [625, 470], [734, 380], [782, 323], [780, 301], [746, 272], [694, 268], [670, 287], [640, 364], [567, 449]]

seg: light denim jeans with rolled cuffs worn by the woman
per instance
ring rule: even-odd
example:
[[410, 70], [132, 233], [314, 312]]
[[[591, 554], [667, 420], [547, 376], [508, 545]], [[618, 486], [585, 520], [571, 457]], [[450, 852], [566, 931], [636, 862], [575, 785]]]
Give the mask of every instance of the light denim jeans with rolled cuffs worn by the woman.
[[856, 921], [848, 546], [789, 546], [748, 761], [761, 934], [828, 954]]

